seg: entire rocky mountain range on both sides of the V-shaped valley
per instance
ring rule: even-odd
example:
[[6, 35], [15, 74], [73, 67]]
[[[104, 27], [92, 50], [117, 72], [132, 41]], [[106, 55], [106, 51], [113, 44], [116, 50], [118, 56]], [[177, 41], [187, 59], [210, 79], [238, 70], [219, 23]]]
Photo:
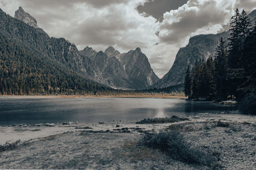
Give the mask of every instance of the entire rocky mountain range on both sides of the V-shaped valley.
[[[255, 21], [256, 10], [249, 17]], [[86, 46], [79, 51], [65, 38], [50, 37], [22, 7], [15, 11], [15, 18], [0, 9], [0, 35], [9, 43], [33, 53], [33, 56], [51, 60], [51, 64], [63, 73], [70, 71], [90, 83], [98, 82], [98, 86], [104, 84], [114, 89], [136, 90], [182, 87], [187, 67], [193, 66], [197, 60], [213, 56], [219, 39], [228, 38], [228, 32], [190, 38], [188, 45], [180, 48], [170, 71], [159, 79], [140, 48], [120, 53], [113, 46], [104, 52], [96, 52]]]

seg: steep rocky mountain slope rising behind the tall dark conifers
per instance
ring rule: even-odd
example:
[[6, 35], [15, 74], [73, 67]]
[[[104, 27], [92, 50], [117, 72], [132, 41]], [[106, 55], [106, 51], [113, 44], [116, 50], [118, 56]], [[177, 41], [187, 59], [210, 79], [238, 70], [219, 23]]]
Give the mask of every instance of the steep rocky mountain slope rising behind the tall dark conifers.
[[[249, 17], [252, 19], [253, 23], [255, 23], [256, 10], [252, 11]], [[190, 38], [188, 45], [180, 48], [170, 71], [168, 71], [161, 80], [157, 81], [152, 88], [183, 85], [184, 75], [188, 66], [192, 67], [197, 60], [207, 60], [210, 55], [214, 56], [216, 45], [221, 37], [227, 40], [228, 32], [198, 35]]]

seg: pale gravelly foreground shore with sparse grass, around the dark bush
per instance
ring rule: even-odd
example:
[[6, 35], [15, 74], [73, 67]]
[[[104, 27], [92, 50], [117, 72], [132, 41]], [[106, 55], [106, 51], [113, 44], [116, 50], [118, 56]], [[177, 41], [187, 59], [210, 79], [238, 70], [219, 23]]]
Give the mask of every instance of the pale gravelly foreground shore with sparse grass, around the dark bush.
[[[145, 133], [162, 130], [179, 131], [192, 148], [216, 154], [218, 162], [188, 164], [138, 145]], [[0, 127], [0, 136], [1, 146], [12, 146], [0, 152], [0, 169], [256, 168], [256, 117], [246, 115], [205, 113], [168, 124]]]

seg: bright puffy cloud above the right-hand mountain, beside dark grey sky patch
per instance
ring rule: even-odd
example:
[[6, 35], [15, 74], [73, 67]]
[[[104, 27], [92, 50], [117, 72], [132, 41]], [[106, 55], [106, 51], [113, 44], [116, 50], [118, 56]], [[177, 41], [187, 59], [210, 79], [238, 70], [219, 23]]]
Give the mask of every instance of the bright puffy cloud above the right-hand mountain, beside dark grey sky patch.
[[214, 0], [190, 0], [177, 10], [164, 13], [159, 38], [161, 42], [176, 44], [195, 32], [216, 33], [229, 14], [230, 11], [221, 9]]

